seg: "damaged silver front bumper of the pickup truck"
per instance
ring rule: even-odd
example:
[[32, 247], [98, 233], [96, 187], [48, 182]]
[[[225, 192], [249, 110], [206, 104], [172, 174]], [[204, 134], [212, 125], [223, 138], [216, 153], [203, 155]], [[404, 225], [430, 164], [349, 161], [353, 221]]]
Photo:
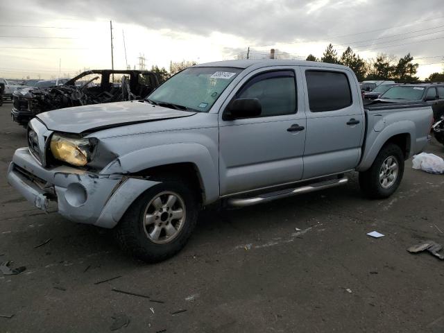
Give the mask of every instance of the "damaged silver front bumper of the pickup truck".
[[57, 210], [78, 223], [113, 228], [133, 201], [157, 182], [122, 174], [103, 175], [74, 167], [46, 169], [29, 153], [15, 151], [8, 182], [41, 210], [57, 203]]

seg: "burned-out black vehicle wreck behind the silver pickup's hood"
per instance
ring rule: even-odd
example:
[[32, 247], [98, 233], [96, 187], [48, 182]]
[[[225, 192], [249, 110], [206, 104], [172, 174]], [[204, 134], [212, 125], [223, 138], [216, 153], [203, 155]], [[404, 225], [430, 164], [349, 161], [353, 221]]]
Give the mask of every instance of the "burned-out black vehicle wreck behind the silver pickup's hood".
[[[123, 84], [114, 85], [112, 77]], [[64, 83], [62, 83], [62, 80]], [[46, 87], [41, 87], [44, 84]], [[75, 78], [49, 80], [37, 87], [22, 89], [14, 95], [12, 119], [26, 127], [28, 121], [41, 112], [72, 106], [144, 99], [158, 86], [151, 71], [93, 70]]]

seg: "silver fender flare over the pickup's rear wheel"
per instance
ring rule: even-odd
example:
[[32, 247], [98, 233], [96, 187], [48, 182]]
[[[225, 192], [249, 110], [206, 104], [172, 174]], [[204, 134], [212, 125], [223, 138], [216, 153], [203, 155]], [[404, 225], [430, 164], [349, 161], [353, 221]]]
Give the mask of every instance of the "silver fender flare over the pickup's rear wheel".
[[416, 137], [416, 126], [413, 121], [410, 120], [403, 120], [403, 121], [397, 121], [395, 123], [391, 123], [390, 125], [386, 126], [381, 132], [375, 132], [373, 128], [371, 129], [372, 133], [368, 135], [367, 142], [372, 142], [373, 144], [371, 146], [365, 146], [364, 148], [364, 155], [362, 157], [361, 162], [356, 168], [356, 171], [366, 171], [368, 170], [372, 164], [373, 161], [375, 161], [375, 158], [379, 151], [381, 151], [381, 148], [388, 142], [391, 137], [394, 137], [395, 135], [400, 134], [407, 134], [410, 137], [410, 154], [407, 157], [410, 157], [411, 152], [413, 151], [413, 148], [415, 147], [415, 142], [413, 141]]

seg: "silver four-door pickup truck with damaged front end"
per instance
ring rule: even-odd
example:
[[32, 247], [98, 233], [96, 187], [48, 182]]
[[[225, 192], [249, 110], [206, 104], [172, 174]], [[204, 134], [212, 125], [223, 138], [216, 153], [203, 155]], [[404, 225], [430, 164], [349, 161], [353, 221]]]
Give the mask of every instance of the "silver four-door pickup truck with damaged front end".
[[[189, 67], [145, 100], [37, 114], [10, 185], [42, 210], [114, 228], [146, 262], [171, 257], [212, 203], [243, 207], [343, 185], [370, 198], [400, 185], [427, 144], [432, 108], [364, 110], [340, 65], [234, 60]], [[53, 203], [53, 204], [52, 204]]]

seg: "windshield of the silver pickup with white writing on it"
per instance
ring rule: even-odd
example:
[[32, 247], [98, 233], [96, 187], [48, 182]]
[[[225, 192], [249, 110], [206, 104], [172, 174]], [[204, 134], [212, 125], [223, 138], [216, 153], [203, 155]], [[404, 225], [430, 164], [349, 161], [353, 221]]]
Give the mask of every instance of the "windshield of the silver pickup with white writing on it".
[[208, 112], [241, 71], [232, 67], [189, 67], [155, 89], [146, 100]]

